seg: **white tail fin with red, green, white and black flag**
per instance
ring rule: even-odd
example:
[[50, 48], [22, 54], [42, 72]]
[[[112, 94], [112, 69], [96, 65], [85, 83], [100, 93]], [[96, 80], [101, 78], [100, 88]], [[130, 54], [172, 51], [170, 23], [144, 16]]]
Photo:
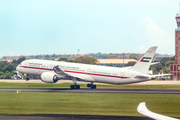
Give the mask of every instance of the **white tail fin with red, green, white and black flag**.
[[131, 69], [147, 74], [156, 49], [157, 46], [149, 48], [149, 50], [144, 54], [144, 56]]

